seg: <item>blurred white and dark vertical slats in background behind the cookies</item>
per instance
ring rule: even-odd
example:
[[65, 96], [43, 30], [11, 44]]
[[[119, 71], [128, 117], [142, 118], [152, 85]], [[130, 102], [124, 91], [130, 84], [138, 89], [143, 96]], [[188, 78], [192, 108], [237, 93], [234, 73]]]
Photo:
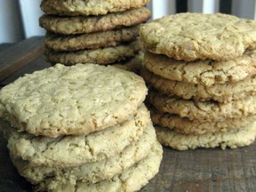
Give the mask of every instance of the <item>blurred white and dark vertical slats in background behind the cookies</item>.
[[[44, 36], [38, 25], [41, 0], [0, 0], [0, 44]], [[152, 19], [177, 12], [223, 12], [255, 20], [256, 0], [151, 0]]]

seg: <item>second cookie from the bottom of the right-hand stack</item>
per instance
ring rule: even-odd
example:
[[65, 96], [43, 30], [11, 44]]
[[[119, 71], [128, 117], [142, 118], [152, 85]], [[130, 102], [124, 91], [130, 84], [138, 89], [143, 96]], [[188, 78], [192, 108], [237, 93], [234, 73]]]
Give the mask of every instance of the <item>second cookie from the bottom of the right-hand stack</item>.
[[177, 115], [161, 113], [150, 109], [152, 122], [156, 125], [169, 128], [174, 132], [183, 134], [204, 134], [206, 132], [229, 132], [241, 129], [256, 120], [256, 116], [243, 116], [240, 118], [226, 118], [223, 121], [188, 120]]

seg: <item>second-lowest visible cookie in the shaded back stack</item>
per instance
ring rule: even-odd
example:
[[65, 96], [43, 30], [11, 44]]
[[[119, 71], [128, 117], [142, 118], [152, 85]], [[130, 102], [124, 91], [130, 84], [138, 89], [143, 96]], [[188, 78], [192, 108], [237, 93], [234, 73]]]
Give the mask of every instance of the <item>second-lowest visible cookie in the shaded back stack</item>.
[[130, 28], [117, 28], [104, 32], [82, 34], [76, 36], [61, 36], [51, 32], [46, 33], [44, 45], [57, 52], [97, 49], [100, 47], [116, 46], [137, 39], [140, 25]]

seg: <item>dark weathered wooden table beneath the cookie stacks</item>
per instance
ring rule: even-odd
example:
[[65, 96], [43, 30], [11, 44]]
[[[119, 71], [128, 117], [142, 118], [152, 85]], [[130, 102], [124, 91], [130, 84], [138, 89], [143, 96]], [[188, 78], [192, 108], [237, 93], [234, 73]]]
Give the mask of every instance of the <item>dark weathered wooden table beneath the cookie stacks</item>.
[[[43, 37], [20, 44], [0, 45], [0, 86], [10, 84], [25, 73], [48, 68], [42, 55]], [[31, 191], [20, 177], [0, 138], [0, 192]], [[249, 147], [177, 151], [164, 148], [160, 171], [141, 191], [251, 192], [256, 191], [256, 143]]]

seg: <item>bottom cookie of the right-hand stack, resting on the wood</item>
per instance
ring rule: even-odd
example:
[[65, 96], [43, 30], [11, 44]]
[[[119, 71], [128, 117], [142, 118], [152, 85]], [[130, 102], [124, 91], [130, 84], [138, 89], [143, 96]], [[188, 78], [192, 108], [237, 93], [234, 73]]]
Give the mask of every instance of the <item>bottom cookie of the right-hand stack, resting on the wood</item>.
[[207, 132], [201, 135], [180, 134], [170, 129], [156, 127], [159, 142], [178, 150], [195, 148], [240, 148], [252, 144], [256, 136], [255, 122], [235, 132]]

